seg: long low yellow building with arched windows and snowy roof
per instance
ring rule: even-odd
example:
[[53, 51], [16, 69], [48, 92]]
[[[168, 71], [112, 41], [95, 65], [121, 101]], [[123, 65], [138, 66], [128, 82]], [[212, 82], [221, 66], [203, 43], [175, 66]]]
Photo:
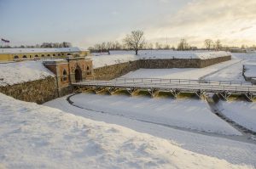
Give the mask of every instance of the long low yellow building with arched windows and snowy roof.
[[26, 59], [84, 57], [90, 54], [82, 48], [0, 48], [0, 61], [19, 61]]

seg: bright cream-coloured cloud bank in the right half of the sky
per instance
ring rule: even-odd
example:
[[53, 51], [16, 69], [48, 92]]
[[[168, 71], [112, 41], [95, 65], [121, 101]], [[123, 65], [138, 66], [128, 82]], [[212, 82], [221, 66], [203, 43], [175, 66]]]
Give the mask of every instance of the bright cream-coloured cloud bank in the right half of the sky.
[[188, 37], [199, 46], [206, 38], [222, 39], [230, 45], [256, 43], [255, 8], [255, 0], [193, 0], [159, 25], [146, 29], [146, 34], [151, 41]]

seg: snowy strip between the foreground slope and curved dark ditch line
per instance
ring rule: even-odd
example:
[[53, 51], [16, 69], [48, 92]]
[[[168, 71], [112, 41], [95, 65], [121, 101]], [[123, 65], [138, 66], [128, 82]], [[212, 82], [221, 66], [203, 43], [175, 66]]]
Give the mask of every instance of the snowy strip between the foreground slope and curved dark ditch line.
[[[256, 145], [239, 141], [239, 137], [223, 136], [216, 137], [215, 134], [202, 135], [196, 132], [188, 132], [164, 127], [153, 123], [134, 121], [124, 116], [108, 115], [96, 111], [79, 109], [67, 103], [63, 97], [46, 103], [50, 107], [65, 110], [74, 115], [84, 116], [96, 121], [105, 121], [129, 127], [137, 132], [146, 132], [159, 138], [166, 138], [175, 141], [183, 149], [188, 149], [203, 155], [224, 159], [233, 164], [256, 164]], [[129, 108], [127, 108], [129, 109]], [[234, 140], [232, 140], [232, 138]], [[236, 140], [235, 140], [236, 139]]]

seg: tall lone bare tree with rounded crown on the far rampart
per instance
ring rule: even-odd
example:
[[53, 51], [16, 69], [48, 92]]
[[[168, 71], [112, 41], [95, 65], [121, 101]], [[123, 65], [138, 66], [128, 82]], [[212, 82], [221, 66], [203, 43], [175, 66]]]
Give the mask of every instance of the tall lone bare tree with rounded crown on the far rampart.
[[135, 50], [137, 55], [137, 52], [145, 45], [144, 32], [139, 30], [131, 31], [131, 34], [126, 35], [124, 42], [128, 48]]

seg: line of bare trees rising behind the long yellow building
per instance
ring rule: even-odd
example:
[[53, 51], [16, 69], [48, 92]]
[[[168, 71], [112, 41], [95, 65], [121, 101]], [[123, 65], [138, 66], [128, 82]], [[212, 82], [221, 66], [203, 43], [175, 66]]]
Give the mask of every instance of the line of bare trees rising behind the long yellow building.
[[43, 42], [42, 44], [20, 45], [15, 47], [6, 45], [6, 46], [1, 46], [0, 48], [70, 48], [70, 47], [72, 47], [71, 42]]

